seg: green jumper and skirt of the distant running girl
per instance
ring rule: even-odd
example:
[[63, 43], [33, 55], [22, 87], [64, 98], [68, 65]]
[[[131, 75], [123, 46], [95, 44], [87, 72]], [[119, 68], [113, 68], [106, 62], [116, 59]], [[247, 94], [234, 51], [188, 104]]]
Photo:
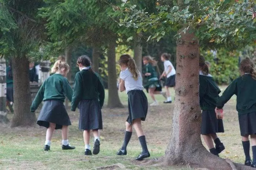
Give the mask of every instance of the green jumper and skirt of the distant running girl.
[[147, 93], [149, 93], [149, 88], [156, 88], [155, 91], [162, 91], [162, 86], [159, 83], [157, 72], [153, 65], [150, 63], [144, 65], [142, 73], [151, 73], [150, 76], [145, 76], [143, 79], [143, 87], [147, 90]]

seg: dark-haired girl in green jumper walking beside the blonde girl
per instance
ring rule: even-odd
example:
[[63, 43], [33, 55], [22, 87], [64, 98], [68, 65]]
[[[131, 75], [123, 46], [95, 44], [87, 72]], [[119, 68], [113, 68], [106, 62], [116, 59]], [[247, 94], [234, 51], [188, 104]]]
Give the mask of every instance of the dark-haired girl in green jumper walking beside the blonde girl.
[[78, 57], [80, 72], [74, 81], [74, 93], [71, 110], [79, 108], [79, 129], [83, 130], [85, 155], [92, 155], [90, 148], [90, 130], [94, 136], [93, 154], [99, 153], [99, 129], [102, 129], [101, 108], [104, 104], [105, 92], [101, 79], [91, 68], [90, 58], [86, 55]]

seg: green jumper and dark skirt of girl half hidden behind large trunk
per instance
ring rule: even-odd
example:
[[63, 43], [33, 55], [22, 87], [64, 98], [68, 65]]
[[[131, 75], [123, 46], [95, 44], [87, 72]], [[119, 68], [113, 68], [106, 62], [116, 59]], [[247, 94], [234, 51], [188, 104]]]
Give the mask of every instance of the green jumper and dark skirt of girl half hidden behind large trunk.
[[199, 72], [199, 99], [202, 110], [201, 134], [224, 132], [222, 119], [217, 119], [215, 108], [220, 89], [211, 74]]

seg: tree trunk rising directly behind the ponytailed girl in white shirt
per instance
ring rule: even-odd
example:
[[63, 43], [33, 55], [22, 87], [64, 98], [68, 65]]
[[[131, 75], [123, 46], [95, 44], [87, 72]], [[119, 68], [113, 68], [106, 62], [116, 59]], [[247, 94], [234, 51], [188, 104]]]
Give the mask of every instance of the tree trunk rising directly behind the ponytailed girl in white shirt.
[[142, 45], [141, 45], [141, 34], [136, 34], [134, 36], [134, 61], [139, 69], [139, 71], [142, 71]]

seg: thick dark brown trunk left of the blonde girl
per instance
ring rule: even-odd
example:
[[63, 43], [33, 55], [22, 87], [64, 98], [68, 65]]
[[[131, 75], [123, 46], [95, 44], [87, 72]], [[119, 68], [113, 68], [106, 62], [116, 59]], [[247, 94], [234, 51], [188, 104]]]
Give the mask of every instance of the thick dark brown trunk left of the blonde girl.
[[12, 61], [15, 104], [10, 126], [32, 126], [36, 122], [36, 115], [30, 112], [29, 61], [25, 56], [14, 57]]

